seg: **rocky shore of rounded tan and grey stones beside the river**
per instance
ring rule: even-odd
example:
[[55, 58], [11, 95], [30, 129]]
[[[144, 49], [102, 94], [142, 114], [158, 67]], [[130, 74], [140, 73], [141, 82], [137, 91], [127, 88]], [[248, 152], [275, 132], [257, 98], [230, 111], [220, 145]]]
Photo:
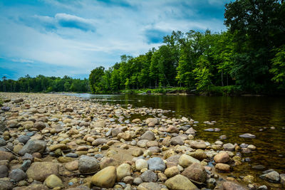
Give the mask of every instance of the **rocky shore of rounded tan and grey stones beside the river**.
[[[165, 116], [170, 110], [55, 94], [0, 97], [0, 189], [269, 189], [251, 175], [225, 175], [254, 144], [197, 139], [195, 120]], [[260, 177], [284, 187], [285, 174]]]

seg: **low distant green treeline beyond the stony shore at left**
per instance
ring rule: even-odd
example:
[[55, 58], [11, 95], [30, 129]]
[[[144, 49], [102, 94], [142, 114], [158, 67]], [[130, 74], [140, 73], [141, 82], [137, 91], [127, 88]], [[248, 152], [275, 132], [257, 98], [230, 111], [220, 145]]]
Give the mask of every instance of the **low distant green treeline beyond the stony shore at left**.
[[31, 78], [26, 75], [18, 80], [2, 78], [0, 81], [1, 92], [24, 92], [24, 93], [50, 93], [50, 92], [76, 92], [86, 93], [90, 92], [88, 79], [74, 79], [68, 76], [63, 78], [59, 77], [46, 77], [38, 75], [35, 78]]

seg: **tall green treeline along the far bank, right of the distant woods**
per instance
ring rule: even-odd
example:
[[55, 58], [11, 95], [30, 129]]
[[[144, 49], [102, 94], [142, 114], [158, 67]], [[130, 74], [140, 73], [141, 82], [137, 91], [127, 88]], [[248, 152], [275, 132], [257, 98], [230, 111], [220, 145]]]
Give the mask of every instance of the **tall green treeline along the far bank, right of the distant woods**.
[[285, 4], [238, 0], [226, 4], [221, 33], [173, 31], [163, 45], [89, 76], [93, 93], [182, 87], [207, 93], [284, 93]]

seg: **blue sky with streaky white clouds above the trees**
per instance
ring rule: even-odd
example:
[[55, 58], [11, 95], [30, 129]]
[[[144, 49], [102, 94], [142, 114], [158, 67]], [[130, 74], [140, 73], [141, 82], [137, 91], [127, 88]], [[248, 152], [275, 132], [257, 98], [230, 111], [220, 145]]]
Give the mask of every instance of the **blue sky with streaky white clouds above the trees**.
[[172, 31], [225, 31], [229, 0], [0, 0], [0, 77], [88, 78]]

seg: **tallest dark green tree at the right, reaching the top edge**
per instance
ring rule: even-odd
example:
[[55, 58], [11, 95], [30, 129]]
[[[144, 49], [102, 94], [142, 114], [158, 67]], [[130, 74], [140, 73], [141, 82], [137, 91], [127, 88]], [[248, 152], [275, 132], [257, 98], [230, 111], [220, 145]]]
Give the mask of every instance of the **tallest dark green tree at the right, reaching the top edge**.
[[226, 4], [225, 25], [233, 34], [232, 75], [244, 90], [271, 88], [272, 49], [285, 43], [284, 2], [238, 0]]

